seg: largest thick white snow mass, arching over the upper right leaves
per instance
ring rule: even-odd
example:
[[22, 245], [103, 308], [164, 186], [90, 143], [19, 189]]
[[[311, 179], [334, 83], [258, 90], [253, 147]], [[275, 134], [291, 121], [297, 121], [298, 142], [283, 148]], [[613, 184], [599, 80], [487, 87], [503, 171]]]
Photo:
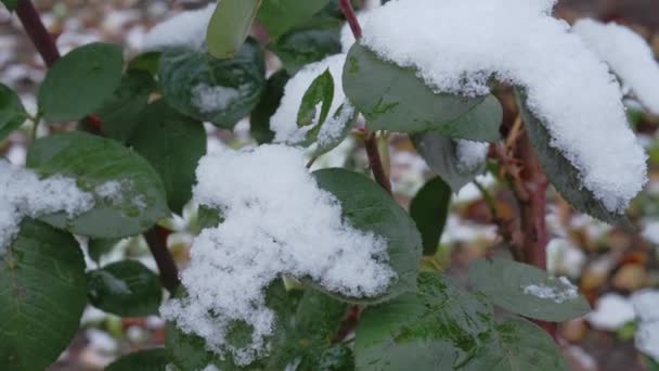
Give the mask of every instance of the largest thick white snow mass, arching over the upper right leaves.
[[384, 60], [416, 68], [437, 91], [484, 95], [492, 76], [522, 87], [551, 145], [580, 171], [582, 186], [622, 214], [647, 180], [646, 155], [608, 66], [550, 15], [553, 4], [392, 1], [363, 15], [361, 42]]

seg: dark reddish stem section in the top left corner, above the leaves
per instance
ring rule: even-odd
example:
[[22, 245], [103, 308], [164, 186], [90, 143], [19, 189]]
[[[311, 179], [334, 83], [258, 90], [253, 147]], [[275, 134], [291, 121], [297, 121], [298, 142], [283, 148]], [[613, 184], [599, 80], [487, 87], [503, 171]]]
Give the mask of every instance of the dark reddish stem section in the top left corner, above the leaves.
[[39, 51], [39, 54], [41, 54], [46, 65], [49, 68], [52, 67], [60, 59], [60, 51], [57, 50], [53, 36], [46, 29], [46, 26], [43, 26], [39, 12], [33, 2], [29, 0], [18, 0], [16, 15], [18, 16], [18, 20], [21, 20], [25, 33], [27, 33], [27, 36], [29, 36], [29, 39]]

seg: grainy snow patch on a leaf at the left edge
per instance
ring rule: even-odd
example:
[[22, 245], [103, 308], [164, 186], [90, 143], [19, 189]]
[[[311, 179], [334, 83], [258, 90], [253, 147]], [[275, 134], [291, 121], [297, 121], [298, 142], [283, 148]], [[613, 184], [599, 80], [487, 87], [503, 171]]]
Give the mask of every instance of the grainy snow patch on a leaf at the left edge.
[[93, 207], [93, 196], [76, 180], [36, 172], [0, 161], [0, 256], [18, 232], [23, 218], [64, 212], [70, 218]]

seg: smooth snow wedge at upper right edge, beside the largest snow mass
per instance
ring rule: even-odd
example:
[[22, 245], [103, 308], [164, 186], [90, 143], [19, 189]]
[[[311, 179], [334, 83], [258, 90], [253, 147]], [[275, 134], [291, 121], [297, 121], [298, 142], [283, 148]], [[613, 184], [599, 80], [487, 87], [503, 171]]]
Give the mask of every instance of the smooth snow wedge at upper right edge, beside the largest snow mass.
[[608, 63], [645, 107], [659, 114], [659, 65], [641, 35], [622, 25], [594, 20], [580, 20], [572, 30]]

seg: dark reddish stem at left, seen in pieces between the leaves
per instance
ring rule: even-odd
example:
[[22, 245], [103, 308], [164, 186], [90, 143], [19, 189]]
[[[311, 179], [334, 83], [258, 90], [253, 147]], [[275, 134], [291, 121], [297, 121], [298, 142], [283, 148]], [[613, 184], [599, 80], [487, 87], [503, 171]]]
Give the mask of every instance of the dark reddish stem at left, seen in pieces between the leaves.
[[[23, 24], [25, 33], [35, 44], [35, 48], [37, 48], [39, 54], [41, 54], [46, 65], [49, 68], [52, 67], [52, 65], [60, 59], [60, 51], [57, 50], [55, 39], [46, 29], [46, 26], [43, 26], [41, 16], [39, 16], [39, 12], [33, 2], [30, 0], [18, 0], [16, 15], [18, 16], [18, 20], [21, 20], [21, 24]], [[94, 115], [89, 115], [86, 118], [86, 121], [88, 121], [99, 131], [103, 125], [99, 117]], [[168, 234], [168, 230], [155, 226], [150, 229], [144, 236], [148, 242], [148, 248], [151, 250], [151, 253], [153, 254], [158, 266], [158, 270], [160, 271], [163, 285], [172, 292], [179, 285], [179, 270], [173, 261], [171, 253], [167, 248]]]

